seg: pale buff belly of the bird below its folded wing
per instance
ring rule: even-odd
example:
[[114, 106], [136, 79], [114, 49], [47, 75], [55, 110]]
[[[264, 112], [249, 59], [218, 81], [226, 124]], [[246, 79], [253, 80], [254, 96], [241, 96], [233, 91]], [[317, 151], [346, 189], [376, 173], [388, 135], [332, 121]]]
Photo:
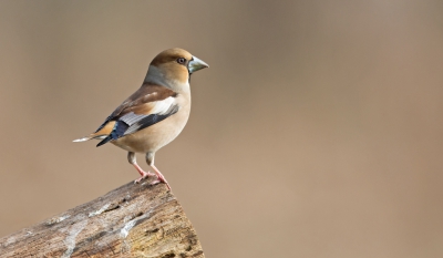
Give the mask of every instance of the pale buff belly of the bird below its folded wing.
[[128, 134], [115, 141], [114, 145], [134, 153], [155, 153], [161, 147], [171, 143], [183, 131], [188, 115], [186, 112], [177, 113], [150, 127]]

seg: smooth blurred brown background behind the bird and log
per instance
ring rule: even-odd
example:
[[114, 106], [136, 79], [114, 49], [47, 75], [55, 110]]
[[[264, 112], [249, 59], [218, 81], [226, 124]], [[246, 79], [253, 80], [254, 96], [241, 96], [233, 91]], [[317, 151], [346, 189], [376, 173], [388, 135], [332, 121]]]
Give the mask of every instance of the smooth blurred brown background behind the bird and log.
[[156, 156], [207, 257], [443, 256], [439, 0], [1, 1], [0, 236], [137, 177], [71, 141], [172, 47], [210, 65]]

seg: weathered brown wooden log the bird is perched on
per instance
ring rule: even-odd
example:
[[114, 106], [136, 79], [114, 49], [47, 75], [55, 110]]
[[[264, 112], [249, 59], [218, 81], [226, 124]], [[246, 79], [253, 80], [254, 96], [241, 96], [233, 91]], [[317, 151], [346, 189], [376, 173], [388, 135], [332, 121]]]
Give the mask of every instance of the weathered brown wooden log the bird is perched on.
[[204, 257], [164, 184], [128, 183], [47, 221], [0, 238], [0, 258]]

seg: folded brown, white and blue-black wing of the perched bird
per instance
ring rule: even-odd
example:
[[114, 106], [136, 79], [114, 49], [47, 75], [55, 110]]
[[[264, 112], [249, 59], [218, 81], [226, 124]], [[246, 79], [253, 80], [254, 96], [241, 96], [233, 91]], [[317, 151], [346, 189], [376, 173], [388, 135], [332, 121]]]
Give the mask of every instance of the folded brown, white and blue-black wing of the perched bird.
[[127, 97], [93, 135], [106, 135], [97, 146], [135, 133], [177, 113], [177, 93], [161, 85], [144, 84]]

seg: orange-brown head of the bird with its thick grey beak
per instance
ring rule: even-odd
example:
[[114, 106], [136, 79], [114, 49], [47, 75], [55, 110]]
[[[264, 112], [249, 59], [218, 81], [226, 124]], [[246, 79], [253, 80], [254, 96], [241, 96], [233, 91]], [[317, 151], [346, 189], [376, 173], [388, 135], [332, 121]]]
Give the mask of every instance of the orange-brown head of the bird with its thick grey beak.
[[163, 81], [169, 86], [187, 84], [192, 73], [205, 68], [209, 68], [209, 65], [186, 50], [168, 49], [157, 54], [151, 62], [145, 82], [146, 80], [157, 83]]

